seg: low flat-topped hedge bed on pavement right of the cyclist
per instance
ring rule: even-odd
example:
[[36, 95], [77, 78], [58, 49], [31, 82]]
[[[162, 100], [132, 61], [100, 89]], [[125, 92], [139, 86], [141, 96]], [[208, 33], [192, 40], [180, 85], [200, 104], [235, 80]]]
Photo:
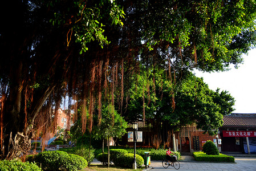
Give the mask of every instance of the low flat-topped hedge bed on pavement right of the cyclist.
[[235, 158], [233, 156], [227, 156], [225, 154], [208, 155], [204, 152], [194, 152], [193, 156], [196, 161], [235, 162]]

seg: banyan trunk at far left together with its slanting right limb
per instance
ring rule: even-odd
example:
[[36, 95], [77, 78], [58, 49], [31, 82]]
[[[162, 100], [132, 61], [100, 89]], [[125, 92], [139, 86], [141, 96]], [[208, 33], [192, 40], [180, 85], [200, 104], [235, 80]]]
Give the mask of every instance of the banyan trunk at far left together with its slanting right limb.
[[[31, 148], [31, 138], [33, 137], [33, 119], [42, 108], [42, 105], [50, 95], [54, 86], [49, 86], [44, 91], [43, 96], [39, 92], [39, 99], [31, 103], [31, 111], [24, 109], [22, 95], [24, 93], [22, 84], [22, 62], [13, 64], [9, 77], [12, 82], [9, 85], [9, 95], [3, 106], [3, 140], [1, 140], [0, 158], [11, 160], [29, 153]], [[34, 116], [33, 116], [34, 115]]]

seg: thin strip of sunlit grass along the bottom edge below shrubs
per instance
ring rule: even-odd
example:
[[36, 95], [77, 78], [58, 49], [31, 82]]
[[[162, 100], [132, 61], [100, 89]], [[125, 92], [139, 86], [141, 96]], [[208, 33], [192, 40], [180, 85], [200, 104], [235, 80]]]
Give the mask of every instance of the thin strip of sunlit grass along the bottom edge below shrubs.
[[[145, 168], [145, 167], [144, 167]], [[126, 171], [132, 171], [135, 169], [127, 169], [127, 168], [120, 168], [117, 166], [110, 166], [109, 168], [107, 166], [103, 166], [103, 165], [94, 165], [91, 164], [90, 167], [87, 167], [85, 169], [83, 169], [82, 171], [105, 171], [105, 170], [113, 170], [113, 171], [122, 171], [122, 170], [126, 170]], [[143, 170], [143, 168], [137, 168], [136, 171], [141, 171]]]

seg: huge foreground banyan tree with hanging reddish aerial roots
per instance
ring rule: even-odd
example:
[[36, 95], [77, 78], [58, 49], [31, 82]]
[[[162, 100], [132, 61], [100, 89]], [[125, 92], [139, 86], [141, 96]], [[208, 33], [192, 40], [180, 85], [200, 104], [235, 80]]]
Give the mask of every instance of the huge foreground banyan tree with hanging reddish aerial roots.
[[140, 65], [164, 68], [174, 86], [193, 68], [237, 66], [255, 44], [254, 0], [19, 0], [0, 11], [0, 140], [8, 159], [56, 128], [52, 108], [63, 97], [81, 101], [91, 129], [102, 100], [126, 105]]

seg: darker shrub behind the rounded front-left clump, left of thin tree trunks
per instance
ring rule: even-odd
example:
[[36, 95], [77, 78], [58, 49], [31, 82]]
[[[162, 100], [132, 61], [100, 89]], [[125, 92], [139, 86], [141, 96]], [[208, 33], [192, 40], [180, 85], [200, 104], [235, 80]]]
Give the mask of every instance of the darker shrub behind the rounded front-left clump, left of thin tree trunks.
[[89, 158], [89, 146], [76, 146], [74, 148], [61, 148], [61, 151], [67, 152], [68, 154], [76, 154], [78, 156], [84, 157], [86, 161], [92, 162], [94, 160], [94, 148], [90, 149], [90, 158]]

